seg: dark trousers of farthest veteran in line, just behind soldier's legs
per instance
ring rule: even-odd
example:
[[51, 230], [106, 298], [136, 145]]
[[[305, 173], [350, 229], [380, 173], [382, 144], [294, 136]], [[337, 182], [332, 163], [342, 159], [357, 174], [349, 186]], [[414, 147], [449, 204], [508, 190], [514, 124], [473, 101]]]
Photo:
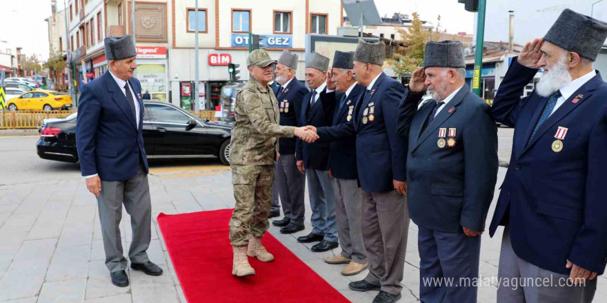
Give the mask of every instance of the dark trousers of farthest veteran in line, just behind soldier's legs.
[[[282, 211], [290, 224], [304, 226], [306, 175], [297, 169], [295, 155], [280, 155], [275, 165], [274, 184], [278, 187]], [[272, 196], [274, 195], [272, 189]], [[273, 202], [273, 198], [272, 198]]]

